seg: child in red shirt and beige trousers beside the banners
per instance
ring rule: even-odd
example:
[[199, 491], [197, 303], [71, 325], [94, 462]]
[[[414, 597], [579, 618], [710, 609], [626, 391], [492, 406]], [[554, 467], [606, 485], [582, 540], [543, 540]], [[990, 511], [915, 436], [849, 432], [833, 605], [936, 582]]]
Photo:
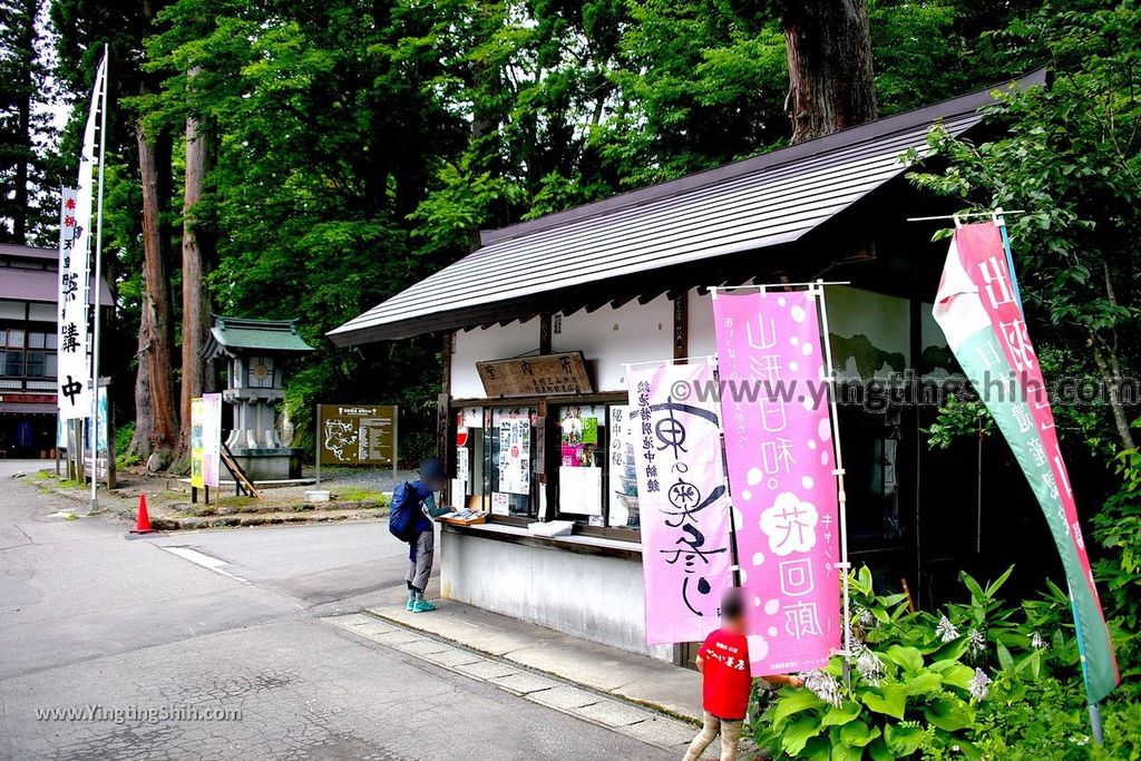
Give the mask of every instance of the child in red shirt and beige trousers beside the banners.
[[[729, 590], [721, 604], [721, 629], [697, 651], [702, 673], [702, 706], [705, 721], [690, 743], [685, 761], [697, 761], [713, 739], [721, 735], [721, 761], [736, 761], [737, 745], [748, 712], [753, 680], [748, 671], [748, 640], [745, 639], [745, 607], [737, 590]], [[775, 685], [800, 687], [795, 677], [766, 677]]]

